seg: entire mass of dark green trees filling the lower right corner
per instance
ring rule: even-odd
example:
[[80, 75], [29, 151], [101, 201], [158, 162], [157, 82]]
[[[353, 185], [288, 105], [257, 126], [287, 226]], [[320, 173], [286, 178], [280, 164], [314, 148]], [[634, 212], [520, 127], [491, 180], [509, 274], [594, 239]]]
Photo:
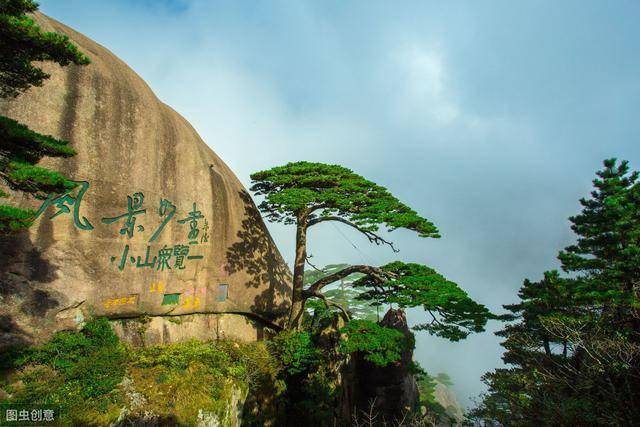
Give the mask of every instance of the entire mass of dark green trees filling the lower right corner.
[[640, 419], [640, 184], [606, 160], [557, 271], [525, 280], [498, 333], [506, 368], [473, 412], [503, 425], [634, 425]]

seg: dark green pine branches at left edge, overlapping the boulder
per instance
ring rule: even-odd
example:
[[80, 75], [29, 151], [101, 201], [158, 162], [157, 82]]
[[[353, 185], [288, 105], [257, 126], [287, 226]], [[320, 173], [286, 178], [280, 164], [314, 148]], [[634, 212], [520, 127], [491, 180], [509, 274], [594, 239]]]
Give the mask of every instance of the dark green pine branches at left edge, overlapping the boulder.
[[[84, 65], [89, 58], [67, 36], [43, 32], [26, 15], [37, 10], [30, 0], [0, 1], [0, 98], [16, 97], [31, 86], [41, 86], [49, 74], [35, 66], [35, 61], [59, 65]], [[0, 182], [13, 191], [44, 198], [50, 193], [64, 193], [74, 183], [62, 174], [35, 166], [43, 157], [71, 157], [75, 151], [66, 141], [41, 135], [7, 117], [0, 116]], [[0, 188], [0, 197], [8, 194]], [[0, 234], [31, 225], [33, 212], [0, 205]]]

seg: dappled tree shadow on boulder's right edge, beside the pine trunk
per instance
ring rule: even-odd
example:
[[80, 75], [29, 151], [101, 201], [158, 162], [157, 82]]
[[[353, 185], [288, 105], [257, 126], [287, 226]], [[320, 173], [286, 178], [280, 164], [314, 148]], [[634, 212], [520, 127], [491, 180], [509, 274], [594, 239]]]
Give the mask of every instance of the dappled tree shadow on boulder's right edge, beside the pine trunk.
[[244, 202], [244, 219], [238, 241], [227, 249], [225, 270], [229, 274], [247, 274], [247, 288], [264, 288], [254, 298], [252, 312], [270, 320], [282, 318], [290, 307], [291, 272], [249, 193], [242, 190], [239, 195]]

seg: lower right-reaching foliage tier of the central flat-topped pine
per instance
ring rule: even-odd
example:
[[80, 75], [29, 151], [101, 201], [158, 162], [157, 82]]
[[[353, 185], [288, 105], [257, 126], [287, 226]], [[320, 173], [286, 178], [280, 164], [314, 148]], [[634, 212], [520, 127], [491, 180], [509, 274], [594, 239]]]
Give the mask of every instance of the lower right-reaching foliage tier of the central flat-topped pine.
[[417, 325], [433, 335], [459, 341], [471, 332], [482, 332], [491, 313], [473, 301], [457, 284], [432, 268], [414, 263], [392, 262], [380, 267], [385, 280], [367, 275], [355, 281], [354, 287], [365, 289], [358, 299], [377, 305], [400, 308], [422, 307], [431, 321]]

